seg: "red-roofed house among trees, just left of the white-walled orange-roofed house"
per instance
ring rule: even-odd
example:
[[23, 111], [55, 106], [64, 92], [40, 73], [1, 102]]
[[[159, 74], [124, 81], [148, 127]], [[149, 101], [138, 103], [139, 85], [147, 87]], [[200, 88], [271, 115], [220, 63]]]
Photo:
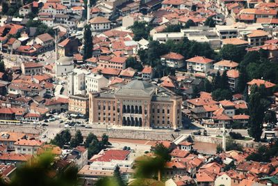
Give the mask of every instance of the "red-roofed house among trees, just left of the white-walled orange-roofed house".
[[161, 61], [163, 65], [172, 68], [183, 68], [184, 64], [184, 57], [181, 54], [177, 54], [174, 52], [170, 52], [161, 56]]

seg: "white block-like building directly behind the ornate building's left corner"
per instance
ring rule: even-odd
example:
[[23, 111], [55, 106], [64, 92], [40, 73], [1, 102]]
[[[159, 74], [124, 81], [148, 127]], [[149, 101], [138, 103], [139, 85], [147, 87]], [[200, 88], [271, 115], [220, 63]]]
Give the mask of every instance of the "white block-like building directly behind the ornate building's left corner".
[[89, 74], [85, 75], [85, 93], [99, 92], [101, 88], [108, 86], [109, 79], [106, 79], [103, 75]]

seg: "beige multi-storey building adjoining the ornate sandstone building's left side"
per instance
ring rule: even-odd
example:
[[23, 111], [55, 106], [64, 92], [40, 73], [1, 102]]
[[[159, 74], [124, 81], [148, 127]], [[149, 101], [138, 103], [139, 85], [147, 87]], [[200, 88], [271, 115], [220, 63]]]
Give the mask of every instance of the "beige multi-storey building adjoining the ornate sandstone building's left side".
[[76, 114], [89, 114], [89, 96], [88, 95], [70, 95], [69, 96], [69, 112]]

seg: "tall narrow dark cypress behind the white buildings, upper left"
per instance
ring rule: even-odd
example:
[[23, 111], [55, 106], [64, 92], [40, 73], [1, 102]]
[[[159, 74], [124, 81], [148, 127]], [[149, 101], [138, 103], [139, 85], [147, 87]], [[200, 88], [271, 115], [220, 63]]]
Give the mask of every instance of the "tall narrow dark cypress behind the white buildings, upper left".
[[84, 27], [83, 34], [83, 60], [92, 57], [92, 31], [89, 24]]

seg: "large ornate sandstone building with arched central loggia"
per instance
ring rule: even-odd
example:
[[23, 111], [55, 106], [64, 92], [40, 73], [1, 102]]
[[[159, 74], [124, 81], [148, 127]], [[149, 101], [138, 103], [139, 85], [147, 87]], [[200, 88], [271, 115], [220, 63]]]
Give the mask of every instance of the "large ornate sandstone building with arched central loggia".
[[154, 84], [133, 80], [112, 91], [89, 94], [90, 123], [181, 127], [181, 96]]

